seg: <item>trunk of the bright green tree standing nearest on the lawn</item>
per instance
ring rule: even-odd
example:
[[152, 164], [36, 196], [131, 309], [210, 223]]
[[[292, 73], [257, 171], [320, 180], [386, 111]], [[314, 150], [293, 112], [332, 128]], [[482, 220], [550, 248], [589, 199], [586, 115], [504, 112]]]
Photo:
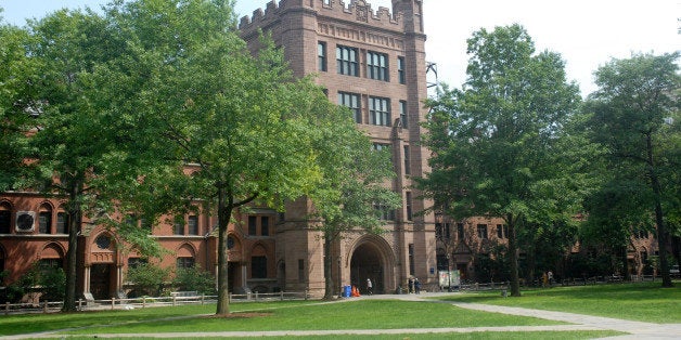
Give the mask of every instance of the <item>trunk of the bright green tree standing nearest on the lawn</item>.
[[[229, 197], [228, 197], [229, 196]], [[218, 303], [216, 315], [228, 315], [229, 306], [229, 258], [227, 232], [232, 215], [233, 201], [224, 187], [218, 187]]]

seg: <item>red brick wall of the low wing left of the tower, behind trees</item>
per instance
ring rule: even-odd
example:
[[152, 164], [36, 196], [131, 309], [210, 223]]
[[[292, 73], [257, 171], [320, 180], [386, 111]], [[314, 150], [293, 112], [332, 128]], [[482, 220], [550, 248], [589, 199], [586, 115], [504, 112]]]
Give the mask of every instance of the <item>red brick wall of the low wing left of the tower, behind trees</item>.
[[[65, 201], [60, 198], [46, 198], [36, 193], [1, 193], [0, 214], [9, 217], [8, 230], [0, 231], [0, 271], [9, 274], [4, 284], [12, 284], [26, 274], [36, 263], [47, 263], [64, 267], [68, 251], [68, 233], [59, 227], [59, 214], [64, 213]], [[17, 226], [21, 214], [34, 217], [25, 228]], [[40, 217], [50, 217], [49, 226], [40, 227]], [[195, 231], [190, 231], [189, 219], [196, 217]], [[248, 221], [257, 218], [255, 234], [250, 235]], [[217, 236], [215, 218], [208, 211], [198, 211], [181, 217], [184, 222], [181, 232], [176, 232], [175, 217], [164, 217], [153, 228], [153, 237], [168, 252], [160, 259], [149, 262], [162, 267], [176, 269], [180, 263], [194, 263], [215, 274], [217, 272]], [[262, 235], [262, 218], [267, 218], [268, 235]], [[114, 217], [120, 221], [120, 217]], [[1, 220], [1, 219], [0, 219]], [[280, 287], [277, 278], [275, 244], [278, 214], [271, 209], [249, 209], [248, 213], [235, 213], [236, 223], [230, 225], [229, 236], [234, 246], [229, 251], [230, 265], [234, 267], [230, 277], [232, 291], [241, 292], [245, 287], [272, 291]], [[134, 221], [142, 226], [141, 221]], [[254, 277], [253, 257], [265, 257], [265, 277]], [[78, 235], [78, 280], [79, 297], [91, 293], [95, 299], [118, 297], [132, 289], [126, 280], [130, 264], [144, 257], [138, 253], [120, 237], [103, 225], [94, 225], [85, 219]]]

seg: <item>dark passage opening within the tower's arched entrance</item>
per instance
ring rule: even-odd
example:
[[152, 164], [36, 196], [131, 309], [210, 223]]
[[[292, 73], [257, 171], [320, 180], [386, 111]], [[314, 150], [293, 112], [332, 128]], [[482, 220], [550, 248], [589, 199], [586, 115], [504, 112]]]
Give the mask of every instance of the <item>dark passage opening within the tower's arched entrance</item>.
[[350, 280], [362, 293], [367, 292], [367, 278], [373, 284], [374, 293], [385, 292], [381, 252], [372, 244], [359, 246], [352, 253], [350, 261]]

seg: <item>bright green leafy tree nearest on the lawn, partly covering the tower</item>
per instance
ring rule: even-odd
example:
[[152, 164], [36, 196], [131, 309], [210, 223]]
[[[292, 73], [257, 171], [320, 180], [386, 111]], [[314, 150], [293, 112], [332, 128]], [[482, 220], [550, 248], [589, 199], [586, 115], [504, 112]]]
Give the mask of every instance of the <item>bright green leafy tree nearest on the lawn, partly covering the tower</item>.
[[131, 114], [136, 135], [149, 141], [145, 154], [159, 169], [190, 172], [145, 181], [163, 184], [158, 191], [174, 181], [185, 189], [181, 198], [214, 209], [216, 314], [228, 314], [232, 213], [252, 202], [279, 208], [319, 182], [310, 122], [322, 92], [309, 79], [294, 80], [266, 40], [252, 56], [237, 35], [232, 1], [140, 0], [118, 3], [110, 14], [133, 53], [126, 81], [138, 84], [137, 96], [115, 105]]

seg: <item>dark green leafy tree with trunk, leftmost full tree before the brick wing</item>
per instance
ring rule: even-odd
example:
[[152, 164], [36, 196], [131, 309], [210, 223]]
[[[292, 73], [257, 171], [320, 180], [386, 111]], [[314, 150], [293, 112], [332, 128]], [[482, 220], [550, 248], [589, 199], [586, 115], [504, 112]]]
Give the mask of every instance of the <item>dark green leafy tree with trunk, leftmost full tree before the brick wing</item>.
[[33, 188], [65, 200], [68, 250], [64, 311], [76, 309], [78, 235], [83, 219], [98, 219], [100, 194], [110, 173], [126, 159], [112, 157], [126, 148], [119, 117], [102, 109], [95, 74], [125, 44], [112, 39], [111, 26], [92, 11], [57, 11], [31, 22], [28, 55], [38, 64], [31, 76], [36, 133], [28, 154]]

